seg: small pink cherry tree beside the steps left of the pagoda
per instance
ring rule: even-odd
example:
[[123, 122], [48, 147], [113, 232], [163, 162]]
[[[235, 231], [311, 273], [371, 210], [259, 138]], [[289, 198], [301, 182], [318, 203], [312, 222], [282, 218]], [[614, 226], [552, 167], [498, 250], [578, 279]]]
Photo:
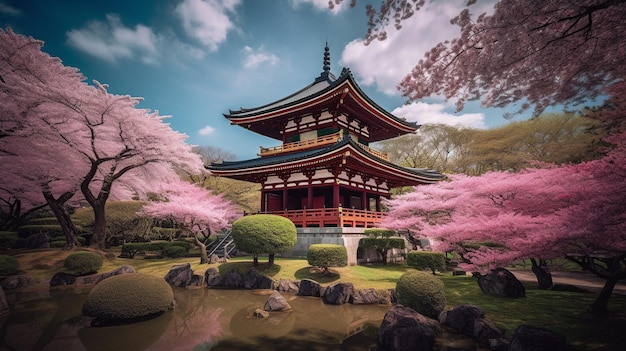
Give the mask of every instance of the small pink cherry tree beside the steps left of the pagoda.
[[229, 228], [241, 211], [221, 195], [185, 181], [162, 185], [162, 201], [146, 204], [140, 215], [168, 219], [193, 233], [200, 247], [200, 263], [208, 263], [205, 240], [219, 230]]

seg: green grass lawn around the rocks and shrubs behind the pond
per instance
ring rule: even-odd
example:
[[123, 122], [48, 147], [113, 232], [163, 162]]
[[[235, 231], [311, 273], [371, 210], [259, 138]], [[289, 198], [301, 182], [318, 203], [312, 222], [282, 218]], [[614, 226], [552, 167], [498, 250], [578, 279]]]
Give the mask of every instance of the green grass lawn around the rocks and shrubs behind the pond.
[[[251, 257], [236, 257], [228, 263], [218, 265], [200, 265], [198, 257], [179, 259], [123, 259], [117, 258], [119, 252], [111, 252], [104, 260], [101, 272], [109, 271], [124, 264], [135, 267], [138, 272], [165, 276], [176, 264], [191, 263], [196, 274], [204, 274], [209, 267], [218, 267], [223, 274], [231, 269], [246, 271], [252, 267]], [[37, 277], [51, 277], [63, 271], [63, 261], [68, 252], [60, 249], [37, 250], [15, 253], [22, 270]], [[267, 257], [259, 258], [262, 273], [275, 280], [309, 278], [329, 284], [343, 281], [351, 282], [355, 288], [389, 289], [395, 288], [396, 281], [406, 271], [413, 268], [404, 264], [366, 265], [336, 267], [331, 274], [322, 275], [319, 270], [311, 269], [306, 260], [276, 258], [272, 267], [267, 265]], [[520, 324], [544, 327], [563, 334], [576, 350], [617, 350], [624, 344], [623, 333], [626, 331], [626, 296], [613, 295], [609, 301], [610, 312], [596, 316], [586, 312], [596, 294], [556, 292], [539, 290], [533, 284], [526, 284], [526, 298], [507, 299], [482, 293], [476, 279], [471, 276], [452, 276], [450, 273], [439, 274], [446, 287], [447, 304], [457, 306], [464, 303], [481, 306], [486, 317], [505, 329], [510, 337]], [[620, 346], [620, 347], [618, 347]]]

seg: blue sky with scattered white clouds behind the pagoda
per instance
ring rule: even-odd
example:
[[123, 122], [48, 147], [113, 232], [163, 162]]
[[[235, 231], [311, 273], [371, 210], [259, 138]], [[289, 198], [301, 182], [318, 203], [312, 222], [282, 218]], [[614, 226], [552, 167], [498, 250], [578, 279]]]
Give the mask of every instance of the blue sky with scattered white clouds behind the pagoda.
[[[440, 0], [363, 44], [365, 5], [328, 9], [327, 0], [0, 0], [2, 27], [45, 42], [43, 50], [109, 91], [143, 97], [194, 145], [216, 146], [237, 159], [278, 141], [231, 126], [223, 113], [256, 107], [311, 83], [328, 42], [331, 71], [348, 67], [383, 108], [420, 124], [489, 128], [507, 122], [499, 109], [432, 97], [411, 105], [395, 89], [424, 52], [457, 34], [449, 19], [465, 1]], [[479, 2], [480, 4], [481, 2]], [[481, 5], [487, 6], [487, 5]], [[489, 8], [475, 8], [475, 12]]]

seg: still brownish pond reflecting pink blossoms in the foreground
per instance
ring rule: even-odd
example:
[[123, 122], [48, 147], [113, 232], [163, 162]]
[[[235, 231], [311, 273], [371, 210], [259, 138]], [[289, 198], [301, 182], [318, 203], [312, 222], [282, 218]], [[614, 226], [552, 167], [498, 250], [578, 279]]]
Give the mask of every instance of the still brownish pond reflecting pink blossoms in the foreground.
[[389, 308], [283, 294], [293, 310], [258, 319], [252, 313], [263, 308], [268, 290], [173, 289], [172, 311], [99, 328], [86, 326], [81, 314], [88, 290], [8, 291], [0, 350], [376, 350]]

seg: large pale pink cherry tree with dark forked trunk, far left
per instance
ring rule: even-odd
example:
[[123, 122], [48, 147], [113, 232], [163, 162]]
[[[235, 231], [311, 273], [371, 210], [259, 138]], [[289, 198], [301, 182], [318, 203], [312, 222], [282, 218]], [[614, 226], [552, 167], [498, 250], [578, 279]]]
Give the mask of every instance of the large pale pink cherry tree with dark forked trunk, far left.
[[16, 187], [49, 191], [45, 200], [61, 208], [79, 194], [94, 211], [92, 245], [104, 249], [109, 198], [145, 193], [176, 169], [204, 172], [202, 161], [166, 117], [137, 108], [139, 98], [108, 93], [106, 84], [85, 83], [42, 45], [0, 30], [0, 156], [18, 163]]

